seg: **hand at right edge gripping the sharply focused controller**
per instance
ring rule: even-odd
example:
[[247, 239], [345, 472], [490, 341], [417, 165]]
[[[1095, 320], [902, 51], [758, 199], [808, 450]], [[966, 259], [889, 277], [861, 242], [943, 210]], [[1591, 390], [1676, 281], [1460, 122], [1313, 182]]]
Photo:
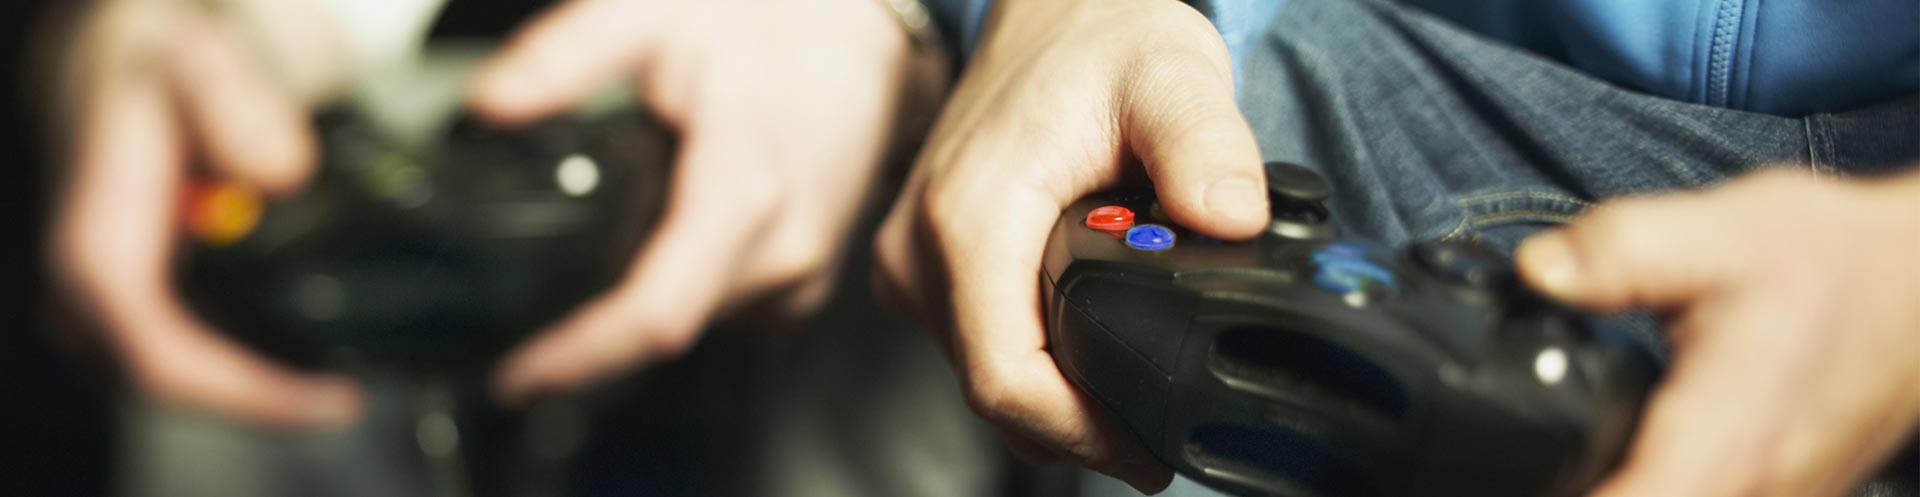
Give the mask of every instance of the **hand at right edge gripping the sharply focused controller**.
[[1912, 173], [1757, 173], [1526, 240], [1534, 288], [1670, 317], [1672, 368], [1594, 495], [1845, 495], [1920, 422], [1914, 248]]

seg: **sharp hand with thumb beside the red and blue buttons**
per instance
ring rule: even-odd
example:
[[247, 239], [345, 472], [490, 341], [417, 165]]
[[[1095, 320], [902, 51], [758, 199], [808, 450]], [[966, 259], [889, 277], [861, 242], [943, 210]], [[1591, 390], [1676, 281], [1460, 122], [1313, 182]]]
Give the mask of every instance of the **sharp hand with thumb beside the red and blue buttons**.
[[998, 2], [881, 226], [876, 272], [1018, 453], [1158, 491], [1171, 472], [1054, 365], [1039, 296], [1054, 219], [1137, 165], [1183, 226], [1244, 240], [1267, 225], [1260, 150], [1208, 19], [1164, 0]]

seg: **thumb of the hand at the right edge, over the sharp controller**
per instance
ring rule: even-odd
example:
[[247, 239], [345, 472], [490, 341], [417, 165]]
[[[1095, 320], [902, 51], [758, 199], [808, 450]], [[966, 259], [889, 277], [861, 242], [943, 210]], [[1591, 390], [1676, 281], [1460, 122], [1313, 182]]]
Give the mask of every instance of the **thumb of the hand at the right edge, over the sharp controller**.
[[1611, 201], [1515, 249], [1523, 280], [1597, 309], [1670, 309], [1732, 276], [1741, 248], [1699, 194]]

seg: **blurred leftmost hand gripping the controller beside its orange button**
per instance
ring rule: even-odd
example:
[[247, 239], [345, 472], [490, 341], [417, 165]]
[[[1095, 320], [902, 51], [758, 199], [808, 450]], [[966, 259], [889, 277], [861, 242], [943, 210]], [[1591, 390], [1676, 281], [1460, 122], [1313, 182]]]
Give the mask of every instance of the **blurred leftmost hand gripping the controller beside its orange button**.
[[[67, 161], [50, 236], [61, 288], [96, 313], [132, 382], [159, 401], [280, 428], [353, 420], [351, 382], [255, 357], [173, 294], [192, 165], [263, 192], [288, 192], [313, 167], [305, 111], [250, 58], [276, 48], [242, 46], [234, 21], [190, 2], [96, 4], [65, 46], [52, 106]], [[298, 38], [273, 46], [298, 48]], [[303, 69], [330, 63], [309, 48], [278, 56], [303, 58]], [[313, 83], [315, 73], [280, 77]]]

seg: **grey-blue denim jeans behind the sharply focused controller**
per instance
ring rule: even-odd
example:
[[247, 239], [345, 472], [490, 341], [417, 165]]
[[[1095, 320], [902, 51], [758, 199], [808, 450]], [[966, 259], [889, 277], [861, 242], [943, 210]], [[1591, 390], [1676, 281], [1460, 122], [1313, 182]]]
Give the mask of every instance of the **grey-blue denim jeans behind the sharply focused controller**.
[[[1392, 246], [1476, 238], [1511, 253], [1603, 198], [1763, 167], [1874, 175], [1920, 159], [1916, 98], [1799, 119], [1674, 102], [1392, 2], [1284, 0], [1238, 61], [1265, 159], [1321, 171], [1340, 226]], [[1611, 324], [1659, 342], [1647, 317]], [[1177, 480], [1164, 495], [1212, 491]]]

